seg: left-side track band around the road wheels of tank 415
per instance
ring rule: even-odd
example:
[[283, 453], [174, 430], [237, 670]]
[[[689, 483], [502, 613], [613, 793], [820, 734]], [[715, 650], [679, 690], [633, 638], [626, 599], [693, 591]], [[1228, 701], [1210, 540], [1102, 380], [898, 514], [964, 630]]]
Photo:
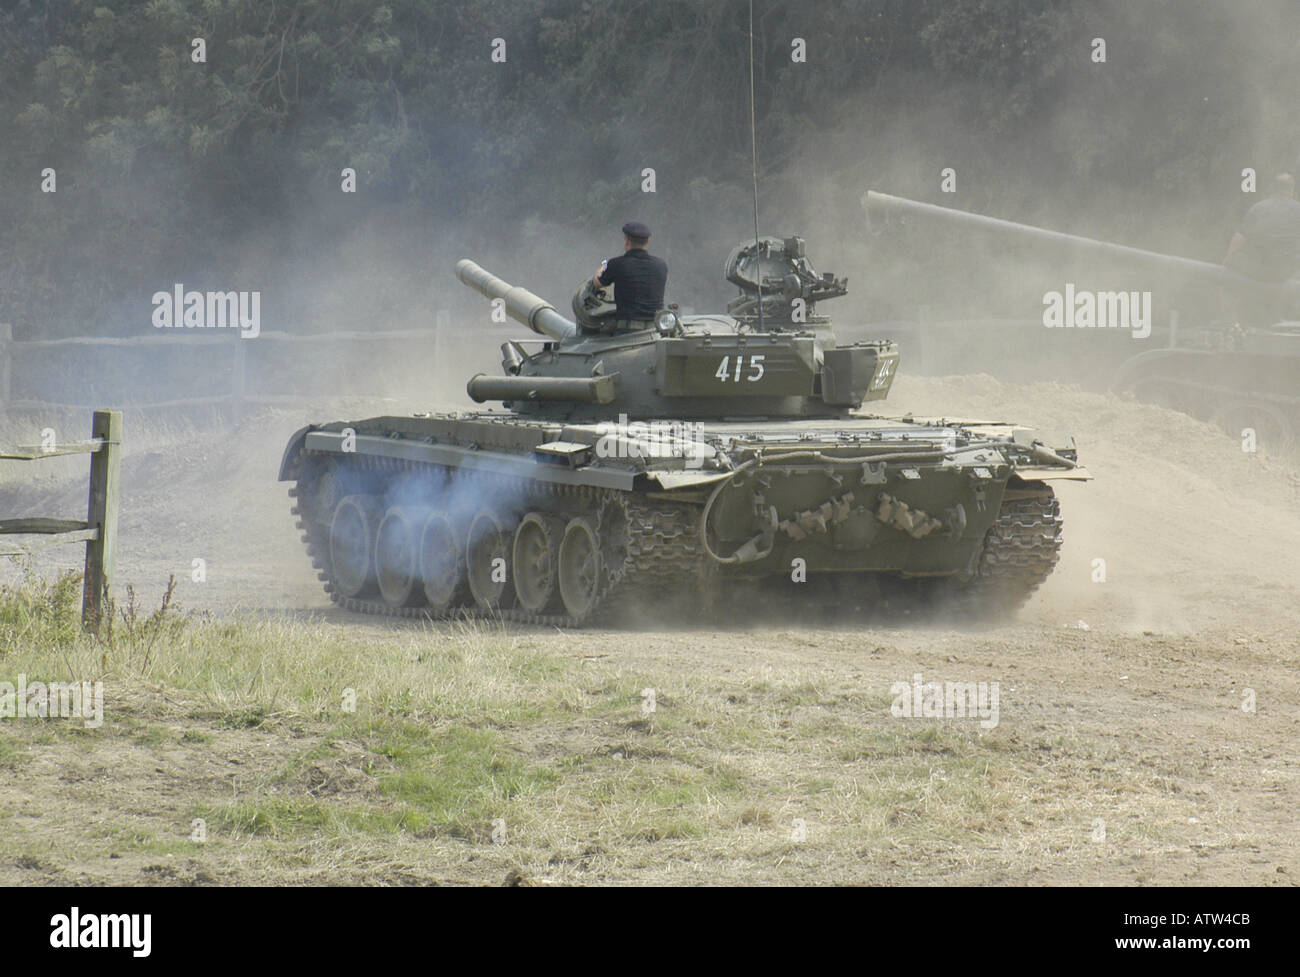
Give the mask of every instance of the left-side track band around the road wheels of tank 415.
[[[299, 470], [303, 470], [302, 463], [309, 457], [306, 452], [299, 456]], [[555, 500], [563, 500], [562, 508], [572, 509], [573, 514], [595, 518], [602, 555], [604, 556], [602, 560], [604, 581], [601, 596], [595, 607], [582, 617], [567, 613], [534, 613], [520, 607], [485, 611], [472, 602], [463, 607], [442, 611], [428, 605], [394, 607], [377, 598], [344, 598], [337, 592], [333, 585], [329, 526], [317, 517], [318, 513], [307, 511], [311, 507], [303, 504], [303, 482], [300, 479], [289, 490], [290, 498], [294, 500], [290, 512], [296, 517], [296, 526], [303, 534], [302, 539], [307, 546], [312, 566], [317, 570], [317, 578], [325, 583], [325, 591], [330, 595], [330, 600], [346, 611], [385, 617], [480, 618], [577, 628], [607, 621], [618, 612], [620, 598], [627, 594], [640, 592], [644, 596], [645, 592], [655, 592], [655, 590], [689, 587], [706, 576], [705, 553], [699, 544], [701, 509], [698, 507], [645, 499], [612, 488], [562, 486], [459, 469], [452, 472], [439, 469], [436, 465], [394, 459], [354, 455], [346, 465], [348, 476], [372, 473], [378, 476], [377, 481], [395, 481], [420, 474], [450, 477], [462, 483], [472, 479], [481, 482], [485, 491], [489, 487], [510, 488], [517, 494], [516, 498], [525, 500], [526, 505], [543, 499], [552, 504]], [[571, 504], [566, 505], [566, 501]], [[614, 538], [615, 534], [618, 538]], [[646, 587], [655, 590], [642, 590]]]

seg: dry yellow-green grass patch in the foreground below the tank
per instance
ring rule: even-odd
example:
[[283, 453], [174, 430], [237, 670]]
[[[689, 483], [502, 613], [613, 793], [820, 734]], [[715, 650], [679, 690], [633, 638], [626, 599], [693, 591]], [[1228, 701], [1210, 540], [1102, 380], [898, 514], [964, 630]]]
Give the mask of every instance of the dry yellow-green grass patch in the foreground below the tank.
[[1186, 841], [1167, 772], [1097, 738], [894, 718], [885, 682], [174, 611], [146, 655], [70, 629], [66, 586], [5, 595], [0, 677], [101, 678], [105, 722], [0, 721], [0, 768], [48, 806], [0, 793], [0, 880], [933, 881], [996, 857], [1027, 881]]

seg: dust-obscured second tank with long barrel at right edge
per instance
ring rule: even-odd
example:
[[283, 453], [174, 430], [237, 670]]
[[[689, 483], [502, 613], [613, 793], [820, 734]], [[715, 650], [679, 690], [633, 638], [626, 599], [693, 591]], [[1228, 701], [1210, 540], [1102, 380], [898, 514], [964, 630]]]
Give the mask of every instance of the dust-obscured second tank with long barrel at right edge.
[[[1183, 411], [1234, 437], [1245, 429], [1275, 453], [1300, 448], [1300, 277], [1283, 282], [1248, 278], [1223, 265], [984, 217], [871, 191], [863, 199], [872, 222], [902, 220], [950, 234], [1023, 242], [1039, 252], [1095, 259], [1167, 285], [1191, 308], [1212, 308], [1171, 333], [1167, 346], [1128, 357], [1112, 390]], [[1236, 316], [1216, 318], [1226, 296]]]

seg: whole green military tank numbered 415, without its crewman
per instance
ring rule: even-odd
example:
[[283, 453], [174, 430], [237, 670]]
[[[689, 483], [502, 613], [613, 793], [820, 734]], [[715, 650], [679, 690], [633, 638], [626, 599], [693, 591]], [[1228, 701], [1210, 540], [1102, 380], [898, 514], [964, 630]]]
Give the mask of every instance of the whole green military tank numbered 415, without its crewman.
[[848, 282], [800, 238], [737, 246], [725, 312], [614, 331], [590, 282], [573, 318], [471, 260], [456, 275], [536, 338], [467, 390], [502, 408], [311, 425], [281, 481], [330, 599], [356, 612], [577, 626], [632, 603], [874, 582], [1004, 615], [1061, 547], [1052, 479], [1074, 440], [1005, 422], [889, 418], [893, 342], [837, 344]]

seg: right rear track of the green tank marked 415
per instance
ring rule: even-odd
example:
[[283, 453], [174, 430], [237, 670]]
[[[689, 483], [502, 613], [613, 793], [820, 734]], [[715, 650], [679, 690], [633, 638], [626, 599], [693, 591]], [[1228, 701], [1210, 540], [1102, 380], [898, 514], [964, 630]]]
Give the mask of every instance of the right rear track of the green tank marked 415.
[[962, 616], [1015, 611], [1052, 576], [1061, 556], [1061, 501], [1050, 488], [1006, 499], [984, 537], [974, 577], [945, 598]]

